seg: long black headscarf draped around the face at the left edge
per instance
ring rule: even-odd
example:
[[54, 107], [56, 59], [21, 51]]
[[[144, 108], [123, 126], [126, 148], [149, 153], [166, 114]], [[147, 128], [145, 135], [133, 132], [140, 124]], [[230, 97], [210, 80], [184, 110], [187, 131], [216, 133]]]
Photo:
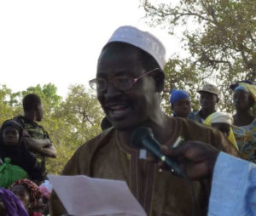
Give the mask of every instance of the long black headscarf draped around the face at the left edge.
[[[7, 146], [3, 143], [3, 131], [7, 127], [14, 127], [19, 132], [19, 143], [15, 146]], [[23, 128], [19, 122], [15, 120], [7, 120], [3, 122], [2, 128], [0, 129], [0, 158], [9, 157], [11, 164], [17, 165], [23, 168], [28, 173], [31, 179], [42, 180], [42, 168], [37, 162], [37, 159], [30, 151], [26, 149], [26, 145], [22, 143]]]

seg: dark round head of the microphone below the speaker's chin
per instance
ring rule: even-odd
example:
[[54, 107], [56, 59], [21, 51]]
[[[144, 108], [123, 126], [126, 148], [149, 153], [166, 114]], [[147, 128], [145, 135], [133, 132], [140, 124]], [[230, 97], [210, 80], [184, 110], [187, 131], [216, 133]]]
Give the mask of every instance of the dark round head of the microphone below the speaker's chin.
[[143, 148], [142, 139], [147, 137], [154, 137], [152, 130], [147, 127], [135, 128], [131, 134], [131, 143], [137, 148]]

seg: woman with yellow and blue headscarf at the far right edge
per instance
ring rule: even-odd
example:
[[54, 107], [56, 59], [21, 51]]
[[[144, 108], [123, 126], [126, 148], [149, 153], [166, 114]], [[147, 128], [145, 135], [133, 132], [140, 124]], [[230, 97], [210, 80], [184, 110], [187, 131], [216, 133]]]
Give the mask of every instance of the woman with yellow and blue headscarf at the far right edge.
[[252, 83], [237, 82], [230, 88], [234, 89], [234, 125], [244, 130], [242, 134], [234, 129], [239, 151], [248, 161], [256, 162], [256, 117], [252, 115], [256, 108], [256, 86]]

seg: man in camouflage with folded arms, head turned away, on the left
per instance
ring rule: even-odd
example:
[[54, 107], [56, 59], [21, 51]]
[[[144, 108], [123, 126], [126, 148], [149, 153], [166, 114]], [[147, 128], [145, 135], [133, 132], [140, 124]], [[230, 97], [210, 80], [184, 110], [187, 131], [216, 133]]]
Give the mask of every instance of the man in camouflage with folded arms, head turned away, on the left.
[[44, 116], [41, 99], [37, 94], [27, 94], [22, 102], [24, 117], [15, 117], [15, 121], [19, 122], [25, 129], [24, 143], [28, 150], [32, 151], [32, 153], [37, 157], [38, 162], [42, 166], [42, 172], [45, 174], [45, 158], [55, 158], [56, 151], [54, 145], [49, 139], [49, 134], [37, 123], [41, 122]]

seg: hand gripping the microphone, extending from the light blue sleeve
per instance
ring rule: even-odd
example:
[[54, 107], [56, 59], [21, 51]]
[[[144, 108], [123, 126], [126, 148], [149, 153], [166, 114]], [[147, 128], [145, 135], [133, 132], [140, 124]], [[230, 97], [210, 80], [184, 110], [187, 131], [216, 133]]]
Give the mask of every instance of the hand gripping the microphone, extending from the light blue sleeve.
[[187, 141], [173, 149], [162, 145], [161, 151], [166, 156], [177, 159], [183, 171], [192, 180], [211, 177], [219, 153], [212, 145], [200, 141]]

